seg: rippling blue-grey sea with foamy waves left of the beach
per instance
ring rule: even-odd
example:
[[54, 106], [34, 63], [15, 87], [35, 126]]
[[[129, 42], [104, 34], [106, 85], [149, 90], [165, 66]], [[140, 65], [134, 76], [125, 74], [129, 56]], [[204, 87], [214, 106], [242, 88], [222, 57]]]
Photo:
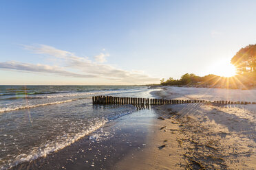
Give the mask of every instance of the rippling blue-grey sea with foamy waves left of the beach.
[[136, 110], [92, 96], [152, 97], [147, 86], [0, 86], [0, 169], [59, 151]]

